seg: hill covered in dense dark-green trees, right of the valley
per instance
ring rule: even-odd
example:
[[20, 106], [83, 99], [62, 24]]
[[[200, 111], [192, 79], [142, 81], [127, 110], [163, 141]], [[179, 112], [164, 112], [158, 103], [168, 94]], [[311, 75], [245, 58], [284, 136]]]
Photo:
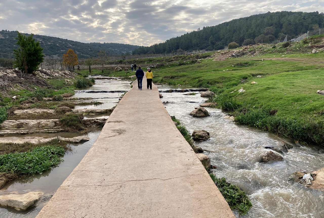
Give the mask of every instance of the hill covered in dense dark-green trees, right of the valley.
[[216, 26], [203, 27], [197, 31], [186, 33], [176, 38], [170, 38], [163, 43], [149, 47], [141, 46], [133, 54], [172, 53], [182, 50], [218, 50], [230, 42], [239, 45], [271, 43], [286, 35], [288, 39], [295, 38], [307, 30], [322, 28], [324, 14], [318, 12], [273, 12], [231, 20]]

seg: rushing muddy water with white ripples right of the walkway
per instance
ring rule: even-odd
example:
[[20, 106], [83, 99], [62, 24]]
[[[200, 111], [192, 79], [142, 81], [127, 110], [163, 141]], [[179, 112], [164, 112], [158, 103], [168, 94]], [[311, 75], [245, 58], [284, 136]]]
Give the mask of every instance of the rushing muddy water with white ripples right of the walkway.
[[[159, 87], [169, 89], [174, 87]], [[246, 191], [253, 208], [249, 218], [323, 218], [324, 193], [288, 181], [290, 173], [299, 169], [313, 171], [324, 167], [324, 150], [318, 146], [302, 146], [292, 140], [275, 136], [226, 119], [219, 109], [207, 108], [210, 116], [194, 118], [189, 113], [206, 99], [183, 93], [162, 93], [162, 101], [170, 115], [176, 116], [189, 132], [206, 130], [210, 139], [197, 143], [211, 152], [204, 152], [217, 166], [214, 174]], [[190, 103], [191, 102], [191, 103]], [[264, 146], [278, 146], [285, 141], [294, 146], [284, 155], [285, 161], [259, 163]], [[236, 217], [239, 217], [236, 214]]]

